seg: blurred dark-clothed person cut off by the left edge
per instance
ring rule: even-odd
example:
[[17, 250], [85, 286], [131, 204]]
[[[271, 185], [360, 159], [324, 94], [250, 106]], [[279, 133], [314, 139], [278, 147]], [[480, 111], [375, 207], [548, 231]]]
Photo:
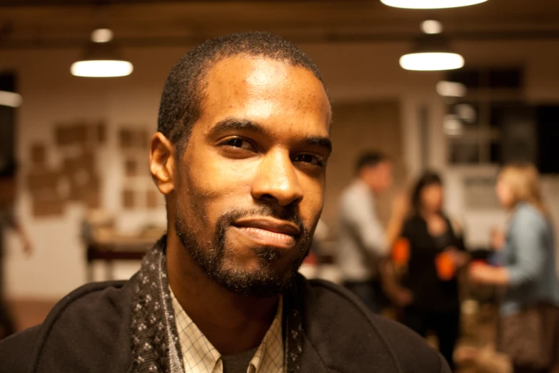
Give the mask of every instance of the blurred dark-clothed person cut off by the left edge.
[[16, 166], [11, 164], [0, 170], [0, 339], [8, 337], [16, 330], [4, 299], [4, 244], [7, 229], [14, 229], [21, 237], [23, 249], [26, 254], [31, 254], [31, 242], [21, 224], [14, 214], [16, 199]]

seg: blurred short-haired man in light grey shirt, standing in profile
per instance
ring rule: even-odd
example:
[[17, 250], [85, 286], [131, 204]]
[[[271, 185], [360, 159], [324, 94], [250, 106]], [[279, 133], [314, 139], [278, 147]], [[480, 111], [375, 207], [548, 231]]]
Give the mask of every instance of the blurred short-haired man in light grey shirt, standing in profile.
[[383, 263], [406, 214], [406, 199], [396, 198], [388, 226], [377, 213], [377, 199], [393, 184], [391, 159], [378, 151], [362, 154], [356, 179], [342, 193], [337, 263], [343, 285], [373, 312], [383, 307]]

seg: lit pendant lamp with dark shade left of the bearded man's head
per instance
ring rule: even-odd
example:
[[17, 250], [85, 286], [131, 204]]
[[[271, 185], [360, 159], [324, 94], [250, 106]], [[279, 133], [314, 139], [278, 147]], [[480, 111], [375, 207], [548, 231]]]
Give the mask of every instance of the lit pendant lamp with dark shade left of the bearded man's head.
[[121, 58], [116, 45], [110, 42], [112, 39], [111, 29], [94, 30], [84, 58], [70, 67], [72, 75], [94, 78], [130, 75], [134, 66], [130, 61]]

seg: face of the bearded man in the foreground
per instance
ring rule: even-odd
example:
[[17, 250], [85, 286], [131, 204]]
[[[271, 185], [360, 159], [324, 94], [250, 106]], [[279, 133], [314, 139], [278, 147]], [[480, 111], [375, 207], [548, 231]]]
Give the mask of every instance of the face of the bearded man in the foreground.
[[231, 292], [283, 291], [323, 207], [331, 109], [302, 67], [251, 56], [217, 62], [174, 176], [175, 228]]

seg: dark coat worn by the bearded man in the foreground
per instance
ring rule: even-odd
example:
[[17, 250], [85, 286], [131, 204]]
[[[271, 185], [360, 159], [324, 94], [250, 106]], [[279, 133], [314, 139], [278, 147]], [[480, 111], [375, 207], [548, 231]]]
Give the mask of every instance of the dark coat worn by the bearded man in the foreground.
[[[0, 342], [0, 372], [130, 372], [137, 280], [88, 284], [66, 296], [42, 325]], [[353, 294], [321, 280], [297, 282], [300, 372], [450, 373], [421, 337], [371, 314]]]

